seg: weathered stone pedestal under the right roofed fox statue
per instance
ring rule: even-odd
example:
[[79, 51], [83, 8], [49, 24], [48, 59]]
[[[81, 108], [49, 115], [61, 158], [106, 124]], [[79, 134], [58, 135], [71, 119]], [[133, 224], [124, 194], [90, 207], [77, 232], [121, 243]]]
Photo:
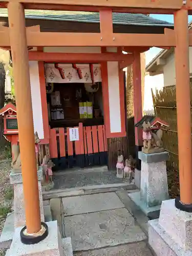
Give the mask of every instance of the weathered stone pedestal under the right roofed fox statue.
[[158, 211], [161, 202], [168, 199], [168, 186], [165, 160], [167, 152], [145, 154], [139, 152], [141, 160], [140, 191], [129, 194], [130, 198], [146, 215]]

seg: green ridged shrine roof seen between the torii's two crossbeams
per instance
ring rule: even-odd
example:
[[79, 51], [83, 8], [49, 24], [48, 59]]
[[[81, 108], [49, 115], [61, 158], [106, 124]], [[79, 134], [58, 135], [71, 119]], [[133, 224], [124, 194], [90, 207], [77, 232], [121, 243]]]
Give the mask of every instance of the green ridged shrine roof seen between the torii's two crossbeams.
[[[77, 11], [25, 10], [27, 19], [62, 20], [67, 22], [99, 23], [99, 13]], [[8, 17], [7, 9], [0, 8], [0, 17]], [[173, 27], [172, 23], [144, 14], [113, 13], [113, 24], [130, 26]]]

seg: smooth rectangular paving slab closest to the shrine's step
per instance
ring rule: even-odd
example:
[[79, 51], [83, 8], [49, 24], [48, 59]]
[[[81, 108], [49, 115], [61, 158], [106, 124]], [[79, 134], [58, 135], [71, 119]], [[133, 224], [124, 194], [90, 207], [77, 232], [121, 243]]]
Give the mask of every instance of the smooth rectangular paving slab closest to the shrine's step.
[[62, 198], [62, 204], [65, 216], [124, 207], [115, 192]]

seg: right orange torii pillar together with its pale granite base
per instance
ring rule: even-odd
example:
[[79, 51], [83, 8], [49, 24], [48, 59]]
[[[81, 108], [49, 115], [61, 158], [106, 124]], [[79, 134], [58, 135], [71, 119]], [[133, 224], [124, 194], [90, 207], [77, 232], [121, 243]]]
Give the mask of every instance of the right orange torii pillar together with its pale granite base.
[[192, 146], [189, 85], [188, 11], [174, 14], [180, 197], [161, 204], [159, 220], [149, 221], [148, 242], [158, 256], [192, 255]]

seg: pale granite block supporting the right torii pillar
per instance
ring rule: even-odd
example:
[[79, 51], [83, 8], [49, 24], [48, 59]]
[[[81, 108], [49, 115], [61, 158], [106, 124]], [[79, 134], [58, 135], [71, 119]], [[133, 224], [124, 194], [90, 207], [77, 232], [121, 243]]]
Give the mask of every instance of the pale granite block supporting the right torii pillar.
[[148, 222], [148, 242], [157, 256], [192, 256], [192, 214], [163, 201], [159, 219]]

